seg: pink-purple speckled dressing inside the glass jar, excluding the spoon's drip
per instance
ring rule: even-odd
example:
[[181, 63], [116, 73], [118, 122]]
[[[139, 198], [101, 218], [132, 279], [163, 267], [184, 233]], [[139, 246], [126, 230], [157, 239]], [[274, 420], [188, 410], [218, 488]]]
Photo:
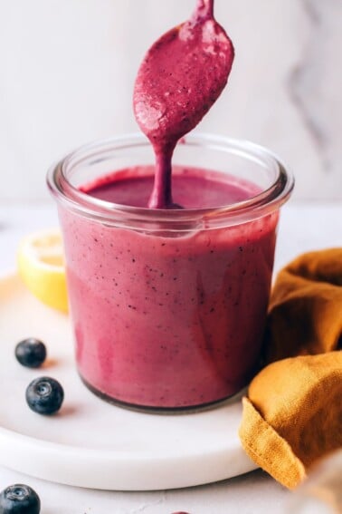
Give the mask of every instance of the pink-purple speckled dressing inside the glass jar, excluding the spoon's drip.
[[[93, 192], [138, 203], [151, 180], [112, 180]], [[182, 176], [175, 183], [177, 198]], [[220, 190], [226, 203], [229, 191], [229, 183]], [[240, 195], [252, 191], [241, 186]], [[60, 218], [76, 359], [92, 390], [177, 409], [223, 400], [248, 383], [260, 354], [277, 214], [176, 234], [113, 228], [62, 209]]]

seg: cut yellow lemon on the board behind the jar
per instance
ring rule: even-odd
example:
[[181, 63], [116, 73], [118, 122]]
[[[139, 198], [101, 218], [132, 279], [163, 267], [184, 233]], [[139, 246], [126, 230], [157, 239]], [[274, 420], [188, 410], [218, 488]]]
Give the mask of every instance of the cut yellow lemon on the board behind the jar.
[[45, 305], [68, 312], [62, 236], [58, 229], [26, 236], [17, 254], [19, 276]]

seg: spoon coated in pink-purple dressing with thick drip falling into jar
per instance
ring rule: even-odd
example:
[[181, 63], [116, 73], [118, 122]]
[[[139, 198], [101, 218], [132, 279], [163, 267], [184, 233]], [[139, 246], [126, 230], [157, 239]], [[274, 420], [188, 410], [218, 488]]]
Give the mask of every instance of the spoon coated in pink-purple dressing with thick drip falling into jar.
[[197, 0], [190, 19], [162, 35], [148, 50], [138, 70], [133, 106], [156, 155], [149, 208], [179, 207], [172, 200], [173, 151], [223, 91], [233, 56], [231, 40], [214, 19], [214, 0]]

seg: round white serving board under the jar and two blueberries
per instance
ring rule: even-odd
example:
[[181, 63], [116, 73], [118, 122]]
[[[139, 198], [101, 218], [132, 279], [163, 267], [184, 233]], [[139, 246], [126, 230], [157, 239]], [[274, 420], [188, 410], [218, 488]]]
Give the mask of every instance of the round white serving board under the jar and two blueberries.
[[[14, 346], [47, 345], [48, 362], [24, 368]], [[188, 414], [132, 412], [81, 383], [70, 319], [36, 300], [14, 274], [0, 277], [0, 464], [45, 480], [103, 490], [163, 490], [227, 479], [256, 468], [242, 450], [240, 399]], [[25, 389], [49, 375], [62, 383], [57, 415], [30, 411]]]

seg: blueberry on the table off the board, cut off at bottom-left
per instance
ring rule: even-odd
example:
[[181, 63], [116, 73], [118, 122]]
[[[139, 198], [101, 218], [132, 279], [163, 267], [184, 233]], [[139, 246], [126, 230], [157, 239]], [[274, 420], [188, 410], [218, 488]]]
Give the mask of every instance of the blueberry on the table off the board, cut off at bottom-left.
[[0, 493], [0, 514], [39, 514], [41, 500], [24, 484], [8, 486]]

